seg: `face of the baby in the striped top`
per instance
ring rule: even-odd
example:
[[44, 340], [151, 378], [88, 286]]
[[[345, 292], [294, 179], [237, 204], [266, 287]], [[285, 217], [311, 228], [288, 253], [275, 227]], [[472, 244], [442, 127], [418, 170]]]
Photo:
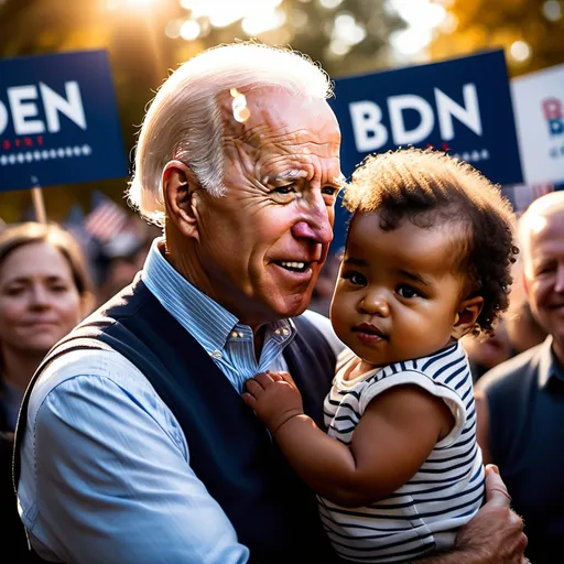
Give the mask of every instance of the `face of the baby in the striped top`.
[[464, 297], [464, 276], [452, 268], [460, 237], [409, 220], [383, 231], [378, 213], [356, 214], [330, 308], [338, 337], [371, 366], [452, 343]]

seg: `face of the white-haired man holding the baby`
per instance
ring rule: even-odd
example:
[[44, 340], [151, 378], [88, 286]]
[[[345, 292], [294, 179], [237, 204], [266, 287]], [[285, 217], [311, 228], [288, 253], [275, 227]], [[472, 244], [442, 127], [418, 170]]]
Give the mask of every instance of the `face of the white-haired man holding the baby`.
[[325, 100], [269, 89], [248, 95], [247, 106], [245, 124], [229, 101], [223, 108], [227, 192], [198, 192], [198, 261], [200, 290], [252, 326], [310, 304], [341, 173], [340, 132]]

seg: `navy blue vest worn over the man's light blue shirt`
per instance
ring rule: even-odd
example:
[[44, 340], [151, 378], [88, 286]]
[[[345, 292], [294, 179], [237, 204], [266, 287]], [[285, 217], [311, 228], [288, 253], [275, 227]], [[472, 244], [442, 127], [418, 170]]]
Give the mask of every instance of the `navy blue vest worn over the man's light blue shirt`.
[[[307, 319], [296, 317], [294, 323], [297, 335], [284, 357], [305, 412], [323, 427], [323, 399], [335, 371], [335, 354]], [[315, 496], [209, 355], [139, 280], [70, 333], [37, 369], [17, 431], [15, 484], [33, 383], [55, 357], [77, 348], [115, 349], [148, 378], [184, 431], [191, 467], [250, 549], [250, 562], [336, 560]]]

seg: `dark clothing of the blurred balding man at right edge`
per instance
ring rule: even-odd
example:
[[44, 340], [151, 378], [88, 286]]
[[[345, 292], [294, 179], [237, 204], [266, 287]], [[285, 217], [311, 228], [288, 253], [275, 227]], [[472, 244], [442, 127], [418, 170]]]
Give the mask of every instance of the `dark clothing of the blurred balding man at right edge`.
[[564, 561], [564, 369], [552, 339], [480, 379], [489, 445], [514, 510], [524, 518], [532, 564]]

